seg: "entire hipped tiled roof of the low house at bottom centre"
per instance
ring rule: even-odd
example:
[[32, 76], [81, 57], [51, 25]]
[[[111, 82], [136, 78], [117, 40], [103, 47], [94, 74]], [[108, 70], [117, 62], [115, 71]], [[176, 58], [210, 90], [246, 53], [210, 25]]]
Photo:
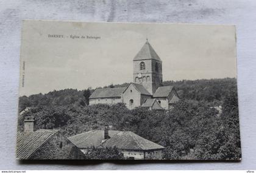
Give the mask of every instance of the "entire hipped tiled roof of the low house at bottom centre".
[[89, 131], [70, 137], [69, 140], [79, 148], [91, 148], [102, 146], [104, 148], [127, 150], [151, 150], [163, 149], [163, 146], [146, 140], [129, 131], [108, 131], [110, 138], [104, 140], [104, 131]]

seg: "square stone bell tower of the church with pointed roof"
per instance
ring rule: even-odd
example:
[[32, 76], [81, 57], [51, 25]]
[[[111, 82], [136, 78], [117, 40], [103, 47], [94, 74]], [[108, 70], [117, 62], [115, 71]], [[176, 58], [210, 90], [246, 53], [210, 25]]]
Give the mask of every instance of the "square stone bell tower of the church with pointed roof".
[[133, 82], [143, 84], [152, 95], [163, 82], [162, 61], [148, 39], [133, 58]]

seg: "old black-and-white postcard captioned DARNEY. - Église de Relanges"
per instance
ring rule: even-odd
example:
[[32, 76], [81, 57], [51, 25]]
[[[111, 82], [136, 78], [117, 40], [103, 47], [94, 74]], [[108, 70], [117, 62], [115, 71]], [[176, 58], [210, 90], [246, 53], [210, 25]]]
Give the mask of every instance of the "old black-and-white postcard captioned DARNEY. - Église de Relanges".
[[241, 160], [233, 25], [23, 21], [16, 158]]

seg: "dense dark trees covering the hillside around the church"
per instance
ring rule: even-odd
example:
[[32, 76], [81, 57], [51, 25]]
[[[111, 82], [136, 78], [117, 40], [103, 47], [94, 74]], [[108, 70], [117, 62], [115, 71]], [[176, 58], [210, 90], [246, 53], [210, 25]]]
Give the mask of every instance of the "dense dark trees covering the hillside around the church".
[[[105, 87], [124, 87], [127, 83]], [[90, 130], [132, 131], [165, 146], [165, 159], [237, 160], [241, 158], [235, 78], [165, 81], [180, 98], [171, 111], [129, 110], [122, 103], [88, 106], [93, 89], [65, 89], [19, 99], [18, 131], [24, 116], [35, 116], [37, 129], [59, 129], [66, 137]], [[221, 112], [215, 109], [221, 107]]]

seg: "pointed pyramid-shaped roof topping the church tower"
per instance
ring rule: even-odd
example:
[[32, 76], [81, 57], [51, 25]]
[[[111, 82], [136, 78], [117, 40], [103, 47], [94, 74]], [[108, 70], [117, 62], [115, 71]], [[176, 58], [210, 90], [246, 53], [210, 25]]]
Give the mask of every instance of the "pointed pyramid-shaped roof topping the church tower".
[[[137, 53], [133, 61], [144, 60], [144, 59], [155, 59], [157, 61], [161, 61], [149, 41], [145, 42], [144, 46], [141, 48], [140, 52]], [[162, 61], [161, 61], [162, 62]]]

